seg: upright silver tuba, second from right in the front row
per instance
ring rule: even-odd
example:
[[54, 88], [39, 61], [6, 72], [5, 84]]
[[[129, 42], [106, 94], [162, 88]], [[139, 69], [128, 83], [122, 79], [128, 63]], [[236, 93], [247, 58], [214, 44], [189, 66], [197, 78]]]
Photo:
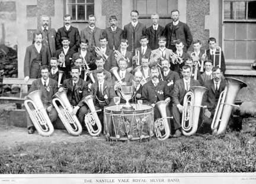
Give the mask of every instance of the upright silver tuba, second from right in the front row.
[[184, 136], [191, 136], [197, 132], [203, 95], [206, 87], [193, 86], [184, 96], [181, 127]]

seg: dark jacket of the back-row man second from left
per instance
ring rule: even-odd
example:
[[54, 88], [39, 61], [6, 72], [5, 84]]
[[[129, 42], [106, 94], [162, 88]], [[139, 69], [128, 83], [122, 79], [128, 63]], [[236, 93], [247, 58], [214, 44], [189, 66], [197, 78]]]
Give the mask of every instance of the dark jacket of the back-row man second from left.
[[[79, 44], [80, 44], [80, 35], [78, 28], [75, 27], [70, 27], [69, 30], [67, 31], [65, 26], [62, 28], [57, 29], [57, 34], [56, 34], [56, 46], [57, 49], [59, 50], [62, 48], [62, 37], [67, 37], [70, 40], [69, 47], [74, 50], [75, 52], [78, 51]], [[58, 55], [57, 55], [58, 56]]]

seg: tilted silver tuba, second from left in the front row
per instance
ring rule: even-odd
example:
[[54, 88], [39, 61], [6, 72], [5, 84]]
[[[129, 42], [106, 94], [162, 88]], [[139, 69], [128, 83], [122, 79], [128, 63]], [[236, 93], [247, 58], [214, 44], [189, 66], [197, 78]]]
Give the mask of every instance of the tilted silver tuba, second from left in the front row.
[[72, 134], [73, 136], [79, 136], [79, 134], [82, 133], [82, 126], [76, 115], [71, 114], [73, 108], [69, 103], [65, 91], [55, 93], [53, 96], [53, 106], [55, 106], [55, 109], [59, 114], [59, 118], [66, 130], [68, 130], [68, 133]]

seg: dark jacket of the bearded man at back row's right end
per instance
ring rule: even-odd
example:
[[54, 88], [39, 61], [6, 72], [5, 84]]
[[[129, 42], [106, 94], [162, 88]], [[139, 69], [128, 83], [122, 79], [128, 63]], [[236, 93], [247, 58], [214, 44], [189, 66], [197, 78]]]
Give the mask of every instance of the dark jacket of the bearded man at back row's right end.
[[[172, 28], [173, 28], [173, 23], [169, 23], [165, 26], [164, 31], [162, 32], [162, 35], [167, 37], [167, 48], [171, 48], [171, 33], [172, 33]], [[176, 39], [181, 40], [185, 47], [190, 47], [191, 43], [193, 42], [193, 37], [190, 32], [190, 28], [188, 27], [187, 24], [179, 21], [178, 25], [176, 25], [175, 28], [175, 34], [176, 34]]]

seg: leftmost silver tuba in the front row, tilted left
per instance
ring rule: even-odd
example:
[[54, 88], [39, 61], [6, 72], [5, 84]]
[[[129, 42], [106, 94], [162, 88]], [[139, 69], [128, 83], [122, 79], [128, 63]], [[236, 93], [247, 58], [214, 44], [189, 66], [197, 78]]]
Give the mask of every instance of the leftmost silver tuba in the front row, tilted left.
[[37, 132], [41, 136], [50, 136], [53, 133], [54, 129], [52, 122], [50, 121], [49, 116], [46, 112], [46, 109], [44, 109], [43, 102], [41, 100], [42, 96], [43, 91], [32, 91], [25, 98], [24, 106], [25, 109], [27, 109], [32, 123], [36, 127]]

